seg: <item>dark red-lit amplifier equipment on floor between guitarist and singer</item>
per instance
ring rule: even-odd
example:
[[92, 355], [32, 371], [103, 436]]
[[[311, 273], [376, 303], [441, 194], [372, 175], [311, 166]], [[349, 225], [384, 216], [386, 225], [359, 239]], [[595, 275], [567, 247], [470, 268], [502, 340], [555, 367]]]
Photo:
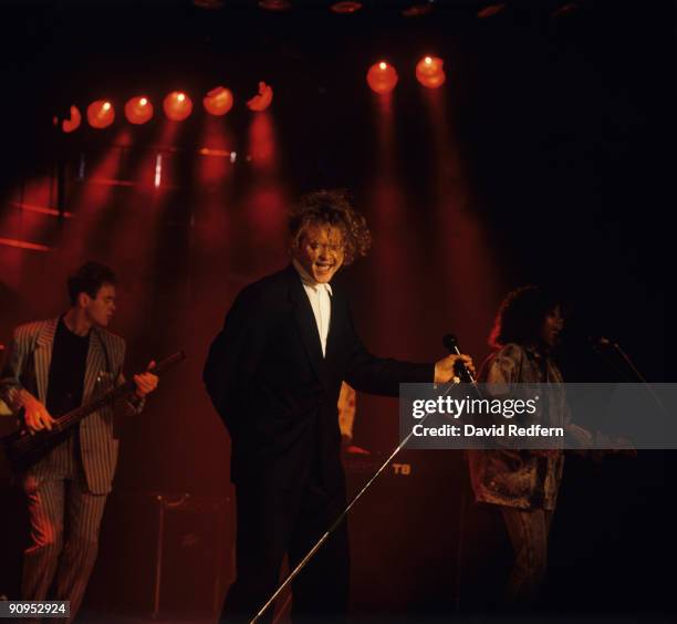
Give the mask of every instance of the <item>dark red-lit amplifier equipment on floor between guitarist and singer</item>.
[[107, 505], [92, 611], [213, 622], [235, 579], [232, 498], [113, 491]]

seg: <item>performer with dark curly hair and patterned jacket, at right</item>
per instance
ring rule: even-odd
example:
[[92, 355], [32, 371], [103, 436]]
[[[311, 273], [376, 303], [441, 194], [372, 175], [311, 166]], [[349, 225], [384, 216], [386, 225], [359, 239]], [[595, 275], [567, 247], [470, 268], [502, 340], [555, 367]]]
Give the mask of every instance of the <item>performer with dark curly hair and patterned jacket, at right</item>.
[[[556, 297], [537, 285], [512, 291], [499, 308], [489, 336], [494, 351], [482, 364], [479, 379], [548, 388], [552, 420], [565, 426], [575, 446], [590, 448], [593, 434], [572, 423], [564, 379], [552, 356], [563, 327], [562, 304]], [[468, 459], [476, 501], [498, 506], [514, 550], [506, 606], [527, 607], [538, 597], [545, 578], [564, 451], [468, 450]]]

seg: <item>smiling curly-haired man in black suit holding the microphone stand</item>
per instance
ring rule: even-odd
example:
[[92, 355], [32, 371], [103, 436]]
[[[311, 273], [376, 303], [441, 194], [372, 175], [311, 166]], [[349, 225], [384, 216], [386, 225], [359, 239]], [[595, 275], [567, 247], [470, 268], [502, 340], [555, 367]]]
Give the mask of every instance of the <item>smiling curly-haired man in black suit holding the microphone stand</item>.
[[[330, 285], [371, 242], [343, 195], [303, 197], [290, 233], [292, 263], [240, 292], [204, 373], [232, 438], [238, 578], [228, 621], [249, 621], [275, 590], [284, 554], [293, 568], [345, 506], [341, 383], [397, 396], [399, 383], [449, 381], [457, 360], [472, 366], [465, 355], [412, 364], [365, 349], [345, 294]], [[344, 522], [292, 583], [294, 620], [344, 620], [348, 566]]]

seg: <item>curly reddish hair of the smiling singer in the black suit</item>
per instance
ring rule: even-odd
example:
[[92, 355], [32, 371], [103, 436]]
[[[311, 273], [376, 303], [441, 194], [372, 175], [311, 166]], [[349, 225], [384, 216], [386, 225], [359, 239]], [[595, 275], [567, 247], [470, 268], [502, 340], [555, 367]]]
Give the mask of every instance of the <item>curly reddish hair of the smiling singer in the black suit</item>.
[[372, 245], [366, 219], [352, 207], [345, 190], [316, 190], [301, 197], [289, 219], [292, 247], [299, 245], [311, 223], [329, 225], [341, 230], [343, 263], [346, 267], [358, 256], [366, 256]]

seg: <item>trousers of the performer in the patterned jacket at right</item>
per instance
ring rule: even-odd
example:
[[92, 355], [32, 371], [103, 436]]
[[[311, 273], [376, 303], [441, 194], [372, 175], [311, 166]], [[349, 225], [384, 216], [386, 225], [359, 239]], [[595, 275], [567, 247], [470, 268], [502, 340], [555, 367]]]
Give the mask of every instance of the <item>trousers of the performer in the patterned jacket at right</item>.
[[528, 606], [538, 597], [545, 579], [553, 511], [502, 506], [500, 509], [514, 550], [506, 600], [515, 607]]

